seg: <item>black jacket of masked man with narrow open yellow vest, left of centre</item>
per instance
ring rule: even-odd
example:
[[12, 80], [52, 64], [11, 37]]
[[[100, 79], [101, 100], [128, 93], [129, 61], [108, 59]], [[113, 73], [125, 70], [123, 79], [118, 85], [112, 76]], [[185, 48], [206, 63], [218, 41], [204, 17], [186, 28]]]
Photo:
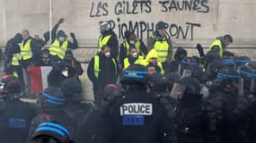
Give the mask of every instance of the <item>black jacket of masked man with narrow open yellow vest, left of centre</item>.
[[[93, 82], [93, 86], [100, 86], [104, 88], [109, 83], [116, 83], [119, 75], [119, 66], [115, 59], [108, 58], [105, 55], [99, 54], [99, 78], [94, 75], [94, 57], [89, 63], [87, 69], [88, 78]], [[115, 61], [115, 63], [113, 62]], [[116, 69], [117, 68], [117, 69]]]

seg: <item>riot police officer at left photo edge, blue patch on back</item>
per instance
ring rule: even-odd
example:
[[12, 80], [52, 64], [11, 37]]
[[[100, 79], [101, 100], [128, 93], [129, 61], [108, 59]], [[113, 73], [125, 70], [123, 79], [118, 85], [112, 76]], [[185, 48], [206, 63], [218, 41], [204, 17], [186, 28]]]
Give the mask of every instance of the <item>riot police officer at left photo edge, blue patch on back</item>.
[[36, 107], [22, 102], [21, 84], [13, 75], [4, 75], [1, 86], [0, 139], [1, 142], [15, 143], [28, 140], [32, 118]]

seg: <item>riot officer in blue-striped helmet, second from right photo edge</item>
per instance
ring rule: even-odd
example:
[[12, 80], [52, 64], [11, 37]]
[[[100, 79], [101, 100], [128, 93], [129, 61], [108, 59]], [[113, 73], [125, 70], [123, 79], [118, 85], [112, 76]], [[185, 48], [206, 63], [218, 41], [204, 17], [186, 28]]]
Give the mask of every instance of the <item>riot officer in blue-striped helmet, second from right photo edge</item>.
[[232, 67], [224, 67], [217, 73], [216, 88], [208, 99], [209, 108], [215, 114], [212, 119], [212, 127], [216, 129], [216, 142], [234, 142], [236, 140], [237, 117], [234, 110], [237, 106], [237, 97], [239, 92], [239, 80], [241, 75]]

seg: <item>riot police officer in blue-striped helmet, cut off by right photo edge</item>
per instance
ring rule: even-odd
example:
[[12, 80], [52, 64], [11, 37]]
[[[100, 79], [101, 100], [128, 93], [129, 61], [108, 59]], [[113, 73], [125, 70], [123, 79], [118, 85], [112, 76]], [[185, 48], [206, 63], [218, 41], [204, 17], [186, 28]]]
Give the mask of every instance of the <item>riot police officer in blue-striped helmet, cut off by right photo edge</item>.
[[[239, 97], [234, 115], [237, 118], [238, 142], [255, 142], [255, 78], [256, 73], [249, 65], [237, 70], [243, 79], [240, 80]], [[250, 140], [250, 141], [249, 141]]]

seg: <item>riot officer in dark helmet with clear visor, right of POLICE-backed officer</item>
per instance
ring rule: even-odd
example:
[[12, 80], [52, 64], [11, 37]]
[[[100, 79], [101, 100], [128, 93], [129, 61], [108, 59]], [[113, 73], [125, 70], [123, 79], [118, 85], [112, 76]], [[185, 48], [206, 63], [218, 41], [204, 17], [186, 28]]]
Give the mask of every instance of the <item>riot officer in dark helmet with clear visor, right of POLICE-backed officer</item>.
[[179, 143], [203, 143], [210, 140], [210, 121], [200, 94], [200, 83], [192, 77], [184, 77], [174, 83], [171, 97], [178, 99], [175, 126]]

